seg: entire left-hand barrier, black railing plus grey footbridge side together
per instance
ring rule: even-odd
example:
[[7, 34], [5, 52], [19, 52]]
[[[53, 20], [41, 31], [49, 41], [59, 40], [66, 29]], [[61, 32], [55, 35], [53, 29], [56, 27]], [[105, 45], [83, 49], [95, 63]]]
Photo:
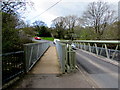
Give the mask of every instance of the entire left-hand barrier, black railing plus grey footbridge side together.
[[48, 42], [24, 45], [24, 51], [5, 53], [2, 57], [2, 85], [28, 72], [49, 47]]

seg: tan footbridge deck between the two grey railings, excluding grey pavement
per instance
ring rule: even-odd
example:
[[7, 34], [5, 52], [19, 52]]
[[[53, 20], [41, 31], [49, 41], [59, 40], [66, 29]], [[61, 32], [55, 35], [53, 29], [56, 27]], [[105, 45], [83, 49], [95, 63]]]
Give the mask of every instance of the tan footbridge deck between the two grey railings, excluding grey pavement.
[[60, 74], [60, 65], [54, 46], [50, 47], [44, 56], [37, 62], [31, 74]]

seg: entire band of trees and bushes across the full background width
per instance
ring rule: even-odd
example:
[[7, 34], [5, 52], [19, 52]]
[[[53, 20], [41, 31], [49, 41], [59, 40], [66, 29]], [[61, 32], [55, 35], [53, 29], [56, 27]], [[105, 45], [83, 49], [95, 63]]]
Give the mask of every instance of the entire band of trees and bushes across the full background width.
[[[20, 19], [17, 10], [25, 8], [26, 3], [2, 2], [2, 51], [13, 52], [23, 49], [23, 44], [31, 43], [33, 36], [53, 41], [62, 40], [119, 40], [119, 21], [107, 3], [93, 2], [88, 6], [82, 17], [68, 15], [57, 17], [48, 28], [45, 22], [35, 21], [32, 26]], [[104, 6], [104, 7], [103, 7]], [[105, 9], [107, 8], [107, 9]], [[24, 9], [23, 9], [24, 10]], [[92, 12], [95, 11], [95, 12]], [[98, 14], [99, 13], [99, 14]]]

